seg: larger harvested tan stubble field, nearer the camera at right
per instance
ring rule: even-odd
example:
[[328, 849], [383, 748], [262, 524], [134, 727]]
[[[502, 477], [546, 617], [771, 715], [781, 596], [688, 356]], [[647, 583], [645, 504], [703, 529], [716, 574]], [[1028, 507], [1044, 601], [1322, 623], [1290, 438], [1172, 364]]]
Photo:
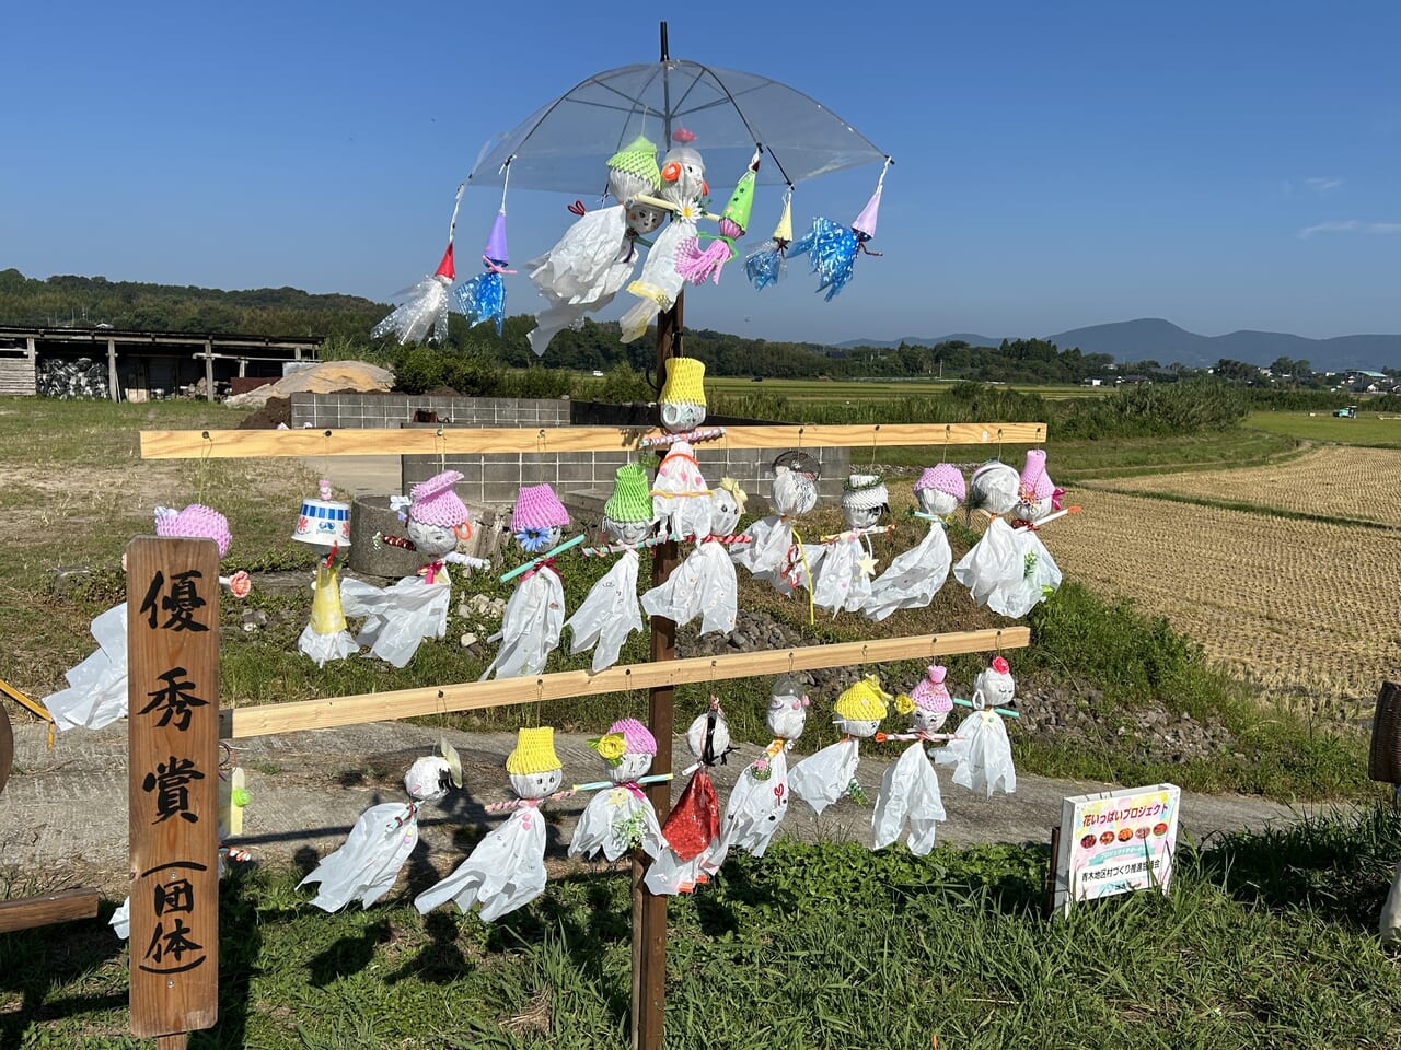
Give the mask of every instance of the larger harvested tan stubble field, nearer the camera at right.
[[[1370, 462], [1369, 451], [1330, 452], [1341, 455], [1316, 466], [1316, 479], [1355, 479], [1355, 505], [1363, 510], [1366, 472], [1345, 461]], [[1241, 487], [1258, 490], [1252, 479], [1231, 475], [1255, 473], [1264, 483], [1278, 470], [1300, 468], [1288, 463], [1142, 480], [1181, 477], [1177, 484], [1195, 486], [1195, 494], [1220, 498]], [[1281, 490], [1279, 498], [1306, 487]], [[1135, 598], [1145, 612], [1166, 616], [1209, 657], [1247, 678], [1286, 693], [1363, 700], [1376, 694], [1383, 678], [1397, 673], [1401, 617], [1394, 567], [1401, 564], [1401, 531], [1146, 494], [1082, 490], [1072, 498], [1084, 512], [1045, 531], [1066, 577]], [[1387, 510], [1395, 514], [1394, 507]]]

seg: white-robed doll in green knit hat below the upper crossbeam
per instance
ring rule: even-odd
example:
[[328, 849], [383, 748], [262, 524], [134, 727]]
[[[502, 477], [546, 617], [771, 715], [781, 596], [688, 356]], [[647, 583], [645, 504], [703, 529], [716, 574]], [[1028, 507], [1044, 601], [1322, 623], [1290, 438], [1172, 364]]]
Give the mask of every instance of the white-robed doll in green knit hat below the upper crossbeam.
[[612, 496], [604, 504], [602, 532], [608, 539], [605, 550], [616, 553], [618, 560], [565, 622], [572, 655], [594, 647], [594, 673], [616, 664], [628, 636], [642, 630], [637, 547], [651, 535], [651, 496], [647, 472], [640, 465], [623, 463], [614, 475]]

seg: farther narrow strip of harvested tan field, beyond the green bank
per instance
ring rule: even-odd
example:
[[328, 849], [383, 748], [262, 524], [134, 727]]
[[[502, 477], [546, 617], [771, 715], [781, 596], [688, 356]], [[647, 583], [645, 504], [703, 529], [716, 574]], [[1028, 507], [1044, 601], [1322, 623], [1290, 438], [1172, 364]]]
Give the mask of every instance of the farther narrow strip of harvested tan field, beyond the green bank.
[[1271, 466], [1119, 479], [1112, 487], [1401, 528], [1401, 490], [1391, 487], [1398, 480], [1395, 449], [1323, 445]]

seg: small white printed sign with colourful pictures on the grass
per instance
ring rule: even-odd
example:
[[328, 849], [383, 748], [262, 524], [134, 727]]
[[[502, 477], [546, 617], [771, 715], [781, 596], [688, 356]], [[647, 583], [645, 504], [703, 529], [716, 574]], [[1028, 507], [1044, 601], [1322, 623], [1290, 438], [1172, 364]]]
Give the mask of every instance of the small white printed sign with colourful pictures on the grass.
[[1072, 795], [1061, 805], [1055, 906], [1159, 888], [1173, 878], [1181, 788], [1142, 788]]

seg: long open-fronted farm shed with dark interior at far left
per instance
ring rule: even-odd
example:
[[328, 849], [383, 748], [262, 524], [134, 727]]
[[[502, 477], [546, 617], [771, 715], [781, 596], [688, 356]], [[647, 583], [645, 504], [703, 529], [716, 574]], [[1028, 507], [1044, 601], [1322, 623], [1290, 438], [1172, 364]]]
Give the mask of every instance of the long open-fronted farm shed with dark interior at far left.
[[0, 395], [147, 400], [275, 379], [293, 361], [315, 361], [321, 336], [304, 339], [115, 328], [0, 326]]

